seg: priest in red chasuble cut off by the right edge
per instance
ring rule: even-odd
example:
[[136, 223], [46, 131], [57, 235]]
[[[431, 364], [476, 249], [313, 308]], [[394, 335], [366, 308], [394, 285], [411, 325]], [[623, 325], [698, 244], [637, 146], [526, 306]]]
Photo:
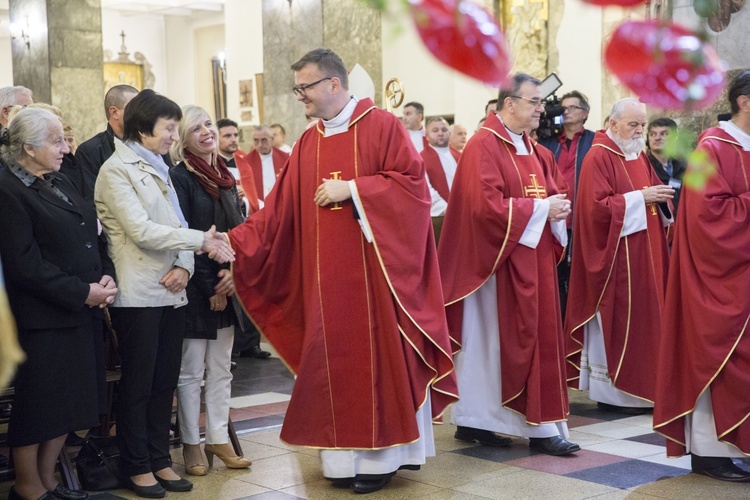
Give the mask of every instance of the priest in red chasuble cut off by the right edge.
[[654, 429], [668, 456], [691, 453], [693, 472], [748, 482], [732, 457], [750, 455], [750, 72], [728, 96], [731, 121], [698, 142], [716, 172], [682, 189]]

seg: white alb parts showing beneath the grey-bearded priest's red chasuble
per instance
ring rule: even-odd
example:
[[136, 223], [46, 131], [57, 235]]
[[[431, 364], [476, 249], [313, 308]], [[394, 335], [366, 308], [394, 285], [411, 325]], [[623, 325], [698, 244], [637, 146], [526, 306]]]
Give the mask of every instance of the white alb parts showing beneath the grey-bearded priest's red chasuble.
[[[614, 140], [608, 130], [607, 135]], [[626, 161], [638, 158], [638, 153], [625, 155]], [[639, 231], [646, 231], [646, 200], [640, 191], [631, 191], [625, 197], [625, 220], [620, 231], [620, 238]], [[667, 219], [659, 212], [665, 225], [674, 222], [674, 218]], [[630, 408], [653, 408], [654, 403], [631, 394], [622, 392], [612, 384], [607, 370], [607, 353], [604, 349], [604, 333], [602, 317], [599, 311], [583, 326], [583, 350], [581, 351], [581, 371], [578, 388], [589, 391], [589, 398], [599, 403]]]

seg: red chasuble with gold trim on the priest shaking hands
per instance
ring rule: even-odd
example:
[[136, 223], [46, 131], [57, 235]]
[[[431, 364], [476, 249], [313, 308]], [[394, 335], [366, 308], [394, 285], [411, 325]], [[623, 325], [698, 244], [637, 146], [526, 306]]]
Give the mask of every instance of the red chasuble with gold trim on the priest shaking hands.
[[[359, 101], [345, 133], [322, 122], [294, 148], [265, 208], [229, 233], [236, 290], [298, 375], [281, 438], [377, 449], [419, 438], [415, 414], [457, 399], [422, 162], [398, 119]], [[351, 200], [318, 207], [323, 178]]]

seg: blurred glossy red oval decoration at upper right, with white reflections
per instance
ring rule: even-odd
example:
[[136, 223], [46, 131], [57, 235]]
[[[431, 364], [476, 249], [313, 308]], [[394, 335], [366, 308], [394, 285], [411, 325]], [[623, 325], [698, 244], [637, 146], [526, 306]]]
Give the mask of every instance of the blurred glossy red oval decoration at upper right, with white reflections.
[[604, 60], [641, 101], [660, 108], [705, 108], [724, 88], [716, 49], [675, 23], [622, 23], [605, 48]]

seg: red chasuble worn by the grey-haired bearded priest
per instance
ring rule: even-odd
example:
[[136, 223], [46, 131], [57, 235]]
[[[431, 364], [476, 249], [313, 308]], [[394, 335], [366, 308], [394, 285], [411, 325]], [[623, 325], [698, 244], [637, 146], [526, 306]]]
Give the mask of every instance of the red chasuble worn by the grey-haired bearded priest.
[[659, 207], [646, 206], [647, 230], [620, 237], [624, 193], [661, 185], [645, 154], [626, 161], [599, 131], [581, 165], [565, 332], [568, 381], [578, 387], [583, 327], [601, 313], [607, 368], [614, 386], [654, 400], [669, 249]]

